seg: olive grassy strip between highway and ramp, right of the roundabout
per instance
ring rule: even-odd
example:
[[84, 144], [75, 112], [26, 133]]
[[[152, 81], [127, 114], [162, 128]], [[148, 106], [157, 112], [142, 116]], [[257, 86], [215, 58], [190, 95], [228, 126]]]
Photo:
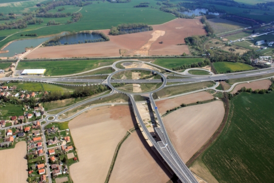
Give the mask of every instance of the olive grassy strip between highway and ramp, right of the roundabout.
[[190, 92], [193, 90], [211, 87], [214, 84], [215, 84], [215, 82], [213, 82], [213, 81], [206, 81], [206, 82], [200, 82], [200, 83], [192, 83], [192, 84], [164, 87], [163, 89], [154, 93], [153, 98], [158, 99], [158, 98], [179, 95], [179, 94], [183, 94], [183, 93]]

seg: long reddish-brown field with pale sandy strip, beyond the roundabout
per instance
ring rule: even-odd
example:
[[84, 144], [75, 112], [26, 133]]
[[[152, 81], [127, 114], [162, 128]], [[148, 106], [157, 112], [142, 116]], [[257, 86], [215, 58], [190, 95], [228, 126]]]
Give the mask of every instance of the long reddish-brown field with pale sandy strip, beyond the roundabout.
[[[109, 30], [103, 30], [105, 34]], [[27, 58], [60, 58], [78, 56], [127, 56], [127, 55], [179, 55], [189, 54], [184, 38], [192, 35], [204, 35], [203, 25], [198, 19], [175, 19], [153, 25], [153, 31], [111, 36], [110, 41], [40, 47], [26, 55]], [[162, 41], [163, 44], [159, 44]]]

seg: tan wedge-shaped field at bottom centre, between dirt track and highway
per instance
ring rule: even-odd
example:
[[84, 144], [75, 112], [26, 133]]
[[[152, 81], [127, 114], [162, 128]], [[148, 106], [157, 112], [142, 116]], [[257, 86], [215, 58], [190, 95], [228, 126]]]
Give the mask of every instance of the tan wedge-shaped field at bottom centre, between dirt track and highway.
[[109, 182], [167, 182], [170, 173], [167, 175], [164, 165], [155, 159], [158, 158], [141, 132], [133, 132], [119, 150]]

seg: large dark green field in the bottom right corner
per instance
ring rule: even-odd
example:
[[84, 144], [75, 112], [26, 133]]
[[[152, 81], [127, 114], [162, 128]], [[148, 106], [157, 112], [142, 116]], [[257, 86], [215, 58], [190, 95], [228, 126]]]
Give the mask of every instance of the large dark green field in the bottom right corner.
[[272, 182], [274, 93], [241, 93], [231, 100], [228, 123], [202, 161], [220, 182]]

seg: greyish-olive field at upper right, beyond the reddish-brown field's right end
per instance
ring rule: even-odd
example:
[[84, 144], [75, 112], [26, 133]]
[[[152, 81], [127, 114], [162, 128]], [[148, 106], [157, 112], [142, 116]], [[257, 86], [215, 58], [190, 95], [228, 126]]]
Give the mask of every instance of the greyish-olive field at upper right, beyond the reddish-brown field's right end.
[[232, 31], [239, 28], [249, 27], [249, 25], [233, 22], [222, 18], [208, 19], [216, 34]]

